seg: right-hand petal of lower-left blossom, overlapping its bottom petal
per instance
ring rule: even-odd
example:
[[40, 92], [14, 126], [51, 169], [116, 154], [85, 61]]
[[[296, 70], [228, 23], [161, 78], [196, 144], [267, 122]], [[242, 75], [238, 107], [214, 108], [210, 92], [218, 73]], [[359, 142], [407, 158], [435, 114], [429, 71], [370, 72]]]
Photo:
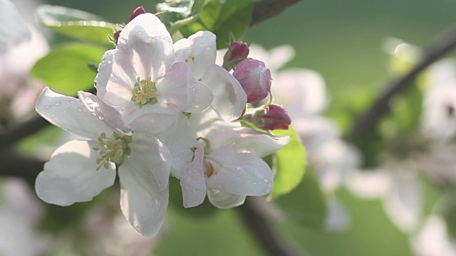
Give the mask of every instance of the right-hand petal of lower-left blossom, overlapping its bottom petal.
[[136, 169], [150, 171], [155, 178], [157, 188], [167, 188], [170, 180], [170, 151], [157, 138], [149, 134], [133, 134], [133, 141], [128, 144], [131, 149], [130, 162]]

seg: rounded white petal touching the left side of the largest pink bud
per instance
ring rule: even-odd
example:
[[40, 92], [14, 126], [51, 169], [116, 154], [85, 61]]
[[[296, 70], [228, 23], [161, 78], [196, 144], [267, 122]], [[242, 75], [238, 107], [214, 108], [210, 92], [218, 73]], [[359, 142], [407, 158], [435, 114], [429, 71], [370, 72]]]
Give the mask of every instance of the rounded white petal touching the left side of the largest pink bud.
[[226, 122], [239, 118], [247, 104], [247, 95], [239, 82], [227, 70], [212, 65], [201, 81], [212, 90], [212, 109]]

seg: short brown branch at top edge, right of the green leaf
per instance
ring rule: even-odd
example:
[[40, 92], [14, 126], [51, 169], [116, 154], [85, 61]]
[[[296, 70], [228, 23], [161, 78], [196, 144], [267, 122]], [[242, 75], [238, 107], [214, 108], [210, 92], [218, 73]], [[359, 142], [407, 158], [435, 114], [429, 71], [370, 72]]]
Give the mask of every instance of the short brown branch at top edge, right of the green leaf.
[[254, 10], [252, 12], [252, 22], [250, 26], [254, 26], [268, 18], [276, 16], [284, 11], [291, 4], [296, 4], [300, 0], [255, 0]]

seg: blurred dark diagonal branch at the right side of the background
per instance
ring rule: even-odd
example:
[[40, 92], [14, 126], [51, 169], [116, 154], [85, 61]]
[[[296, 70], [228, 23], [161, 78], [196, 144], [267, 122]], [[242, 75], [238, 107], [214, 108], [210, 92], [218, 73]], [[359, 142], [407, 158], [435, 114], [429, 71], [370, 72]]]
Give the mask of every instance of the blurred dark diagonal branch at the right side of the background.
[[385, 92], [383, 92], [380, 97], [375, 100], [371, 108], [366, 113], [362, 114], [361, 117], [358, 117], [355, 124], [353, 124], [348, 139], [351, 139], [352, 141], [354, 139], [359, 139], [368, 129], [373, 128], [380, 120], [380, 117], [390, 112], [390, 100], [394, 95], [407, 90], [408, 87], [413, 84], [413, 80], [415, 80], [425, 68], [442, 58], [445, 54], [450, 53], [455, 47], [456, 29], [453, 29], [450, 33], [439, 38], [425, 50], [423, 59], [415, 68], [413, 68], [413, 70], [410, 70], [410, 72], [403, 77], [393, 80], [393, 82], [386, 85], [387, 89]]

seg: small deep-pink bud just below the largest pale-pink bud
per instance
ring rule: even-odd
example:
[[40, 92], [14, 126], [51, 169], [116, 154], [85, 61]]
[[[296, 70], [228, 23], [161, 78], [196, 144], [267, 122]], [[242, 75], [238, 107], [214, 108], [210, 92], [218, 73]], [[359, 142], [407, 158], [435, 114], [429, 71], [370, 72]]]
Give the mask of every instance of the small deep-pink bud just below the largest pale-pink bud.
[[259, 128], [266, 130], [288, 129], [291, 124], [291, 118], [281, 105], [272, 104], [264, 107], [266, 114], [257, 117], [261, 120]]

